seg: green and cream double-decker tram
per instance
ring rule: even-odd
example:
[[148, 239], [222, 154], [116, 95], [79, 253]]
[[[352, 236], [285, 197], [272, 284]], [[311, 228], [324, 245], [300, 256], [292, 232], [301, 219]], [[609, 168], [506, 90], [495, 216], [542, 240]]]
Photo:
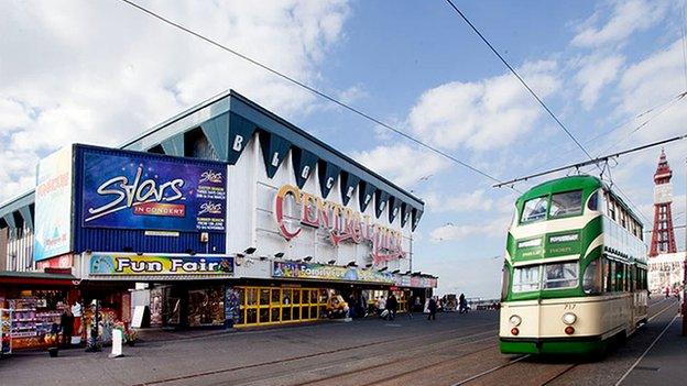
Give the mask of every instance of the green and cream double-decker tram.
[[522, 195], [503, 267], [502, 353], [602, 353], [646, 322], [643, 225], [592, 176]]

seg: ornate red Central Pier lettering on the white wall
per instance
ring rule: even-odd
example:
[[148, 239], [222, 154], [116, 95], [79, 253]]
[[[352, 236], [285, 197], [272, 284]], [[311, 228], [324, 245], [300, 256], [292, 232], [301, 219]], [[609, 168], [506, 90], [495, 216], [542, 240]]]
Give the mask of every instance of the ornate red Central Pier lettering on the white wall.
[[[356, 212], [340, 203], [302, 191], [293, 185], [284, 185], [276, 192], [274, 214], [280, 233], [291, 241], [297, 238], [303, 227], [324, 229], [334, 246], [341, 242], [370, 243], [374, 264], [405, 257], [403, 234], [396, 230], [372, 223], [370, 216]], [[299, 224], [286, 220], [287, 208], [294, 208]]]

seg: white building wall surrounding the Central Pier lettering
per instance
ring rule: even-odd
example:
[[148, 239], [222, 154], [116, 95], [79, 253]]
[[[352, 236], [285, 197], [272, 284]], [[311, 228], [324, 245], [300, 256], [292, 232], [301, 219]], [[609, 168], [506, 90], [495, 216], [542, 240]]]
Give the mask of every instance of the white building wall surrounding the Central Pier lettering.
[[[254, 256], [265, 256], [270, 260], [273, 258], [274, 254], [283, 253], [285, 260], [299, 260], [313, 256], [312, 263], [326, 264], [334, 260], [336, 265], [346, 265], [351, 261], [355, 261], [361, 267], [372, 264], [370, 256], [372, 247], [369, 242], [353, 243], [352, 241], [344, 241], [338, 246], [335, 246], [329, 241], [328, 232], [325, 229], [302, 225], [298, 213], [295, 213], [296, 208], [292, 208], [293, 206], [290, 207], [291, 210], [287, 210], [286, 222], [291, 228], [301, 227], [302, 232], [291, 241], [286, 241], [280, 233], [274, 213], [275, 198], [277, 190], [283, 185], [296, 186], [292, 157], [293, 152], [288, 152], [274, 177], [269, 178], [264, 167], [262, 147], [260, 146], [260, 136], [255, 134], [238, 163], [228, 166], [227, 253], [240, 253], [253, 246], [258, 249]], [[320, 197], [317, 167], [310, 172], [301, 190]], [[326, 200], [342, 205], [340, 184], [341, 179], [338, 177]], [[356, 188], [352, 198], [346, 206], [356, 212], [360, 212], [359, 188], [360, 186]], [[390, 206], [386, 205], [381, 216], [377, 218], [375, 202], [372, 200], [363, 214], [369, 216], [373, 223], [401, 231], [403, 233], [403, 250], [407, 254], [405, 258], [384, 262], [375, 266], [375, 268], [386, 266], [390, 272], [394, 269], [405, 272], [410, 269], [412, 247], [411, 221], [407, 221], [402, 229], [401, 214], [399, 214], [393, 223], [390, 223], [389, 210]], [[265, 271], [269, 277], [269, 264], [260, 262], [252, 264], [250, 267], [238, 267], [237, 276], [242, 276], [241, 274], [263, 276]]]

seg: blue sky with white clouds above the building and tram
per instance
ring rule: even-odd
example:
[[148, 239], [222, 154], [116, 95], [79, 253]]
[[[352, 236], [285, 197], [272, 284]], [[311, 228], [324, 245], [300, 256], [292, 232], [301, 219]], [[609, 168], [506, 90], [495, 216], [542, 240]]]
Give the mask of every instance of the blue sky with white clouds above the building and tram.
[[[585, 159], [445, 1], [137, 2], [499, 179]], [[683, 0], [456, 4], [590, 154], [687, 133]], [[516, 191], [118, 0], [2, 1], [0, 36], [0, 200], [63, 145], [116, 146], [231, 88], [422, 198], [413, 269], [439, 294], [498, 297]], [[679, 225], [687, 141], [665, 151]], [[659, 152], [608, 165], [646, 228]]]

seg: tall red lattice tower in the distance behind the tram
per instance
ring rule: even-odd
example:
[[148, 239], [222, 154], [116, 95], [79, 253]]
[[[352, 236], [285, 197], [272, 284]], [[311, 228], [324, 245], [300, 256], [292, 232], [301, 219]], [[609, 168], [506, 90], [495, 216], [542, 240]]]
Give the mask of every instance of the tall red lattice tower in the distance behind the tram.
[[661, 151], [658, 167], [654, 174], [654, 230], [648, 256], [654, 257], [663, 253], [675, 253], [675, 232], [673, 231], [673, 186], [670, 185], [673, 170], [668, 165], [665, 152]]

